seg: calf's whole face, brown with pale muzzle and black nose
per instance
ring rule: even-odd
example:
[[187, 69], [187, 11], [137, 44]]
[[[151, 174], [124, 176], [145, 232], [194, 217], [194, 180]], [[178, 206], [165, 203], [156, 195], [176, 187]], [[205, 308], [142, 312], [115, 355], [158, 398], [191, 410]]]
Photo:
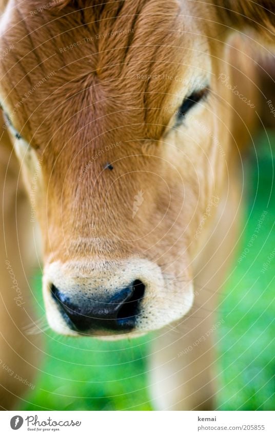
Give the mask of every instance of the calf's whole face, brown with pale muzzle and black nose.
[[3, 6], [0, 97], [41, 226], [49, 324], [161, 328], [192, 305], [202, 217], [227, 174], [217, 34], [230, 14], [222, 2], [44, 3]]

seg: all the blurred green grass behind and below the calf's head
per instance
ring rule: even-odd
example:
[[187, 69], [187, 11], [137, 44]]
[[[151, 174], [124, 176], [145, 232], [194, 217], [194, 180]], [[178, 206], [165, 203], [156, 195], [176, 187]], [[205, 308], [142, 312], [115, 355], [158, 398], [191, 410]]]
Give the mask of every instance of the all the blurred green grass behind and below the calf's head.
[[[251, 147], [244, 162], [244, 232], [217, 314], [225, 321], [217, 333], [220, 410], [275, 409], [274, 143], [271, 133], [258, 137], [257, 153]], [[263, 264], [268, 267], [261, 272]], [[38, 318], [43, 315], [40, 275], [34, 287]], [[152, 410], [146, 368], [151, 339], [105, 343], [46, 330], [35, 389], [19, 410]]]

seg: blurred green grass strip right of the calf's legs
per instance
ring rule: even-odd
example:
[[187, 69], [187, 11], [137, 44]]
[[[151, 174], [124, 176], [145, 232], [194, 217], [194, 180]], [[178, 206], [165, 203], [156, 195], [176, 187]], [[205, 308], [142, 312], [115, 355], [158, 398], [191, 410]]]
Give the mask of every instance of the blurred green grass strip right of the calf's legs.
[[[269, 139], [275, 143], [274, 136]], [[219, 332], [221, 410], [275, 409], [274, 161], [268, 140], [262, 137], [257, 142], [261, 143], [258, 162], [254, 157], [245, 166], [245, 230], [221, 307], [225, 314]], [[258, 237], [251, 240], [264, 211]], [[274, 259], [261, 272], [272, 252]]]

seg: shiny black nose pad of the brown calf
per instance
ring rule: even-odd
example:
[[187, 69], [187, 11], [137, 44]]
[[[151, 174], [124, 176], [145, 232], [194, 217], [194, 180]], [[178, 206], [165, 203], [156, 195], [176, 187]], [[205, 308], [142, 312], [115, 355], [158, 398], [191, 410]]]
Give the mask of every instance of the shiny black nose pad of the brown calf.
[[139, 314], [140, 301], [145, 286], [135, 280], [130, 286], [117, 290], [107, 301], [97, 301], [100, 297], [89, 299], [76, 295], [67, 296], [53, 284], [51, 293], [57, 302], [67, 324], [76, 331], [88, 330], [132, 330]]

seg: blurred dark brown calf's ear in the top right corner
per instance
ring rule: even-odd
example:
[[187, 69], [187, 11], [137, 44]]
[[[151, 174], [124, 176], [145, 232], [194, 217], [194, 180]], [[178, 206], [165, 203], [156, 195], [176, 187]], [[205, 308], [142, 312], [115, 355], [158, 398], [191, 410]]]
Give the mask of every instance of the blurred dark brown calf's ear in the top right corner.
[[275, 0], [213, 0], [213, 4], [228, 30], [253, 29], [263, 42], [275, 46]]

